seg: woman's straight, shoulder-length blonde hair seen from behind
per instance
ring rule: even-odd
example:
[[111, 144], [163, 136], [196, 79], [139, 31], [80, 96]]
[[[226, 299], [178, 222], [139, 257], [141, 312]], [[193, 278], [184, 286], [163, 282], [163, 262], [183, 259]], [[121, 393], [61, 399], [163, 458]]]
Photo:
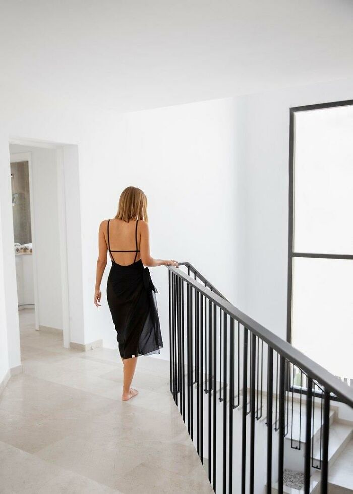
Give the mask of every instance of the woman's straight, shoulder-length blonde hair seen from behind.
[[116, 219], [123, 221], [144, 220], [148, 222], [147, 197], [138, 187], [129, 186], [121, 193]]

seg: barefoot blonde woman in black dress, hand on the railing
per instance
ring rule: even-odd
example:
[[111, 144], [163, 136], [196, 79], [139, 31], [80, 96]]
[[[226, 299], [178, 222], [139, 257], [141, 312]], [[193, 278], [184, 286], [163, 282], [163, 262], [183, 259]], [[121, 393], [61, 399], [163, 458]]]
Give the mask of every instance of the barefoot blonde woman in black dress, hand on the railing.
[[158, 290], [152, 283], [149, 269], [143, 265], [178, 267], [178, 263], [151, 257], [147, 198], [137, 187], [124, 189], [115, 218], [101, 222], [98, 243], [94, 304], [100, 307], [100, 283], [109, 251], [112, 264], [106, 293], [123, 361], [122, 400], [127, 401], [138, 393], [130, 387], [136, 357], [160, 353], [159, 349], [163, 347], [155, 295]]

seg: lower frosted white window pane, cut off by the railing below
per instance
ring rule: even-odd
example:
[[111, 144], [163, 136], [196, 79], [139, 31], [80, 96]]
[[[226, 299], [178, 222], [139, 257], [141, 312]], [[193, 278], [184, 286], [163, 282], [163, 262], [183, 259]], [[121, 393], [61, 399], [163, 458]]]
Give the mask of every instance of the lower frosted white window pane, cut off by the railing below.
[[353, 261], [294, 258], [292, 344], [341, 378], [353, 378]]

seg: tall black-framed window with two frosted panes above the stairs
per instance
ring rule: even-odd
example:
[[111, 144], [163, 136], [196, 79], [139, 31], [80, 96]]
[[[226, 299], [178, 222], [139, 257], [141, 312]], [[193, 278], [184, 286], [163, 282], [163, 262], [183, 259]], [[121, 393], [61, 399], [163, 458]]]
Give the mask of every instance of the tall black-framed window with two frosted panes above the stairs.
[[290, 109], [288, 341], [353, 386], [353, 101]]

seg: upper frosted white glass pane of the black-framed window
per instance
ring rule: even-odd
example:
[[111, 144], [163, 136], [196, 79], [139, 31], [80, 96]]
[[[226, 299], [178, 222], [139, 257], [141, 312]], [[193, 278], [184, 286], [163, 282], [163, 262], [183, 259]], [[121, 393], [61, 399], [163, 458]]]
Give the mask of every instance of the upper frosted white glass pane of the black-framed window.
[[295, 116], [294, 250], [353, 254], [353, 106]]

